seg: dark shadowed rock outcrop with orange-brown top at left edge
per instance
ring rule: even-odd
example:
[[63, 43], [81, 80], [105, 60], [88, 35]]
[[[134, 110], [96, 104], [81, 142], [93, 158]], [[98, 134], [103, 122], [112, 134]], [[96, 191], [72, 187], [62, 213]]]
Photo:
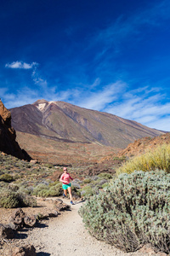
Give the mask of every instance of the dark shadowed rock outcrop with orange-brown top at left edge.
[[11, 126], [11, 113], [0, 100], [0, 151], [12, 154], [20, 159], [29, 159], [26, 152], [15, 141], [15, 138], [16, 133]]

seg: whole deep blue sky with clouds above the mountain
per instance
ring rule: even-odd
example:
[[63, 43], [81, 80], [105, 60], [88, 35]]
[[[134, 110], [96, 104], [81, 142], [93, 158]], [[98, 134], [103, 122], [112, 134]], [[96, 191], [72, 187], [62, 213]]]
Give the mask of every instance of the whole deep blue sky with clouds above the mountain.
[[170, 131], [168, 0], [1, 0], [6, 108], [70, 102]]

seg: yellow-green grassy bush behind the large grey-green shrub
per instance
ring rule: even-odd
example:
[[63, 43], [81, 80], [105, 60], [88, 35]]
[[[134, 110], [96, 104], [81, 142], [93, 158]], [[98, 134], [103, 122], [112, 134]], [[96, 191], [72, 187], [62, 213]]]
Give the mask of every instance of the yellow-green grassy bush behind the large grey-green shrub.
[[156, 169], [170, 172], [170, 144], [163, 144], [154, 150], [128, 160], [117, 170], [117, 174], [122, 172], [131, 173], [135, 170], [148, 172]]

